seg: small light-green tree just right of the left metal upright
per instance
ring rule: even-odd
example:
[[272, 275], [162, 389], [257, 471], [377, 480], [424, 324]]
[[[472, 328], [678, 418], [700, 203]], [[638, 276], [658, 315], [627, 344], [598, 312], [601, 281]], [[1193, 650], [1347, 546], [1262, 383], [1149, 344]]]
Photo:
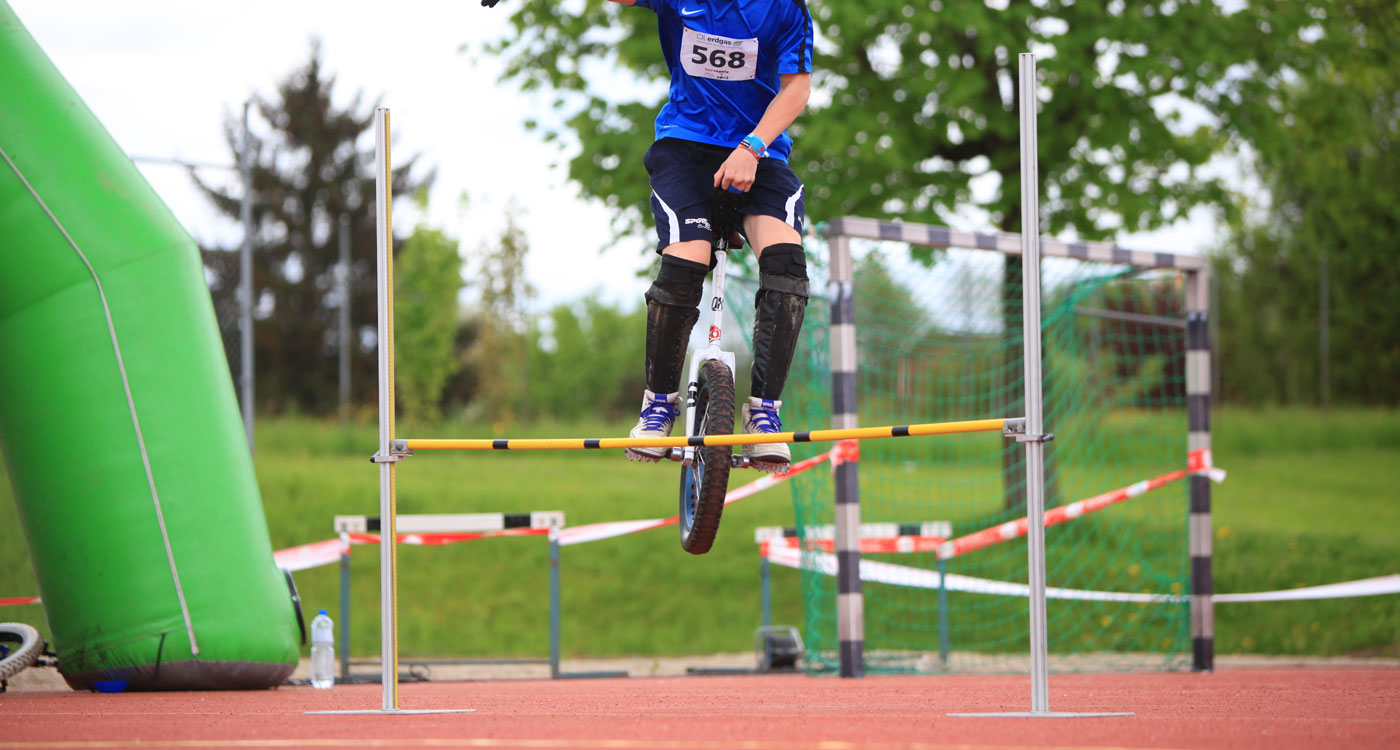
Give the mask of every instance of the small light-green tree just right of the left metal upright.
[[[427, 200], [420, 193], [420, 207]], [[462, 291], [458, 242], [440, 229], [419, 227], [399, 252], [395, 285], [395, 382], [405, 417], [435, 421], [448, 381], [459, 362], [452, 351]]]

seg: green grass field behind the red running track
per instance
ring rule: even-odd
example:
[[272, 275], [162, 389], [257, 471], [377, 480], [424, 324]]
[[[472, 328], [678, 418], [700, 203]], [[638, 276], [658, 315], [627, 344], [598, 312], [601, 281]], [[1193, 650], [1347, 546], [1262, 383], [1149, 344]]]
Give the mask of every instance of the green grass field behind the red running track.
[[[1400, 414], [1394, 411], [1219, 410], [1215, 463], [1229, 479], [1214, 493], [1219, 593], [1319, 585], [1400, 572]], [[605, 437], [622, 424], [536, 424], [510, 437]], [[444, 425], [412, 437], [503, 437]], [[1183, 437], [1184, 442], [1184, 437]], [[305, 418], [262, 420], [258, 476], [276, 547], [332, 536], [336, 514], [378, 512], [367, 458], [374, 425], [349, 430]], [[679, 472], [617, 453], [438, 453], [399, 472], [399, 512], [561, 509], [570, 525], [659, 518], [676, 511]], [[731, 487], [757, 474], [735, 473]], [[7, 484], [0, 484], [0, 597], [36, 593]], [[1131, 512], [1128, 505], [1105, 511]], [[725, 512], [715, 549], [692, 557], [673, 528], [563, 551], [566, 655], [678, 655], [752, 648], [759, 624], [752, 529], [792, 522], [773, 490]], [[547, 649], [547, 546], [496, 539], [400, 547], [402, 652], [539, 656]], [[378, 553], [357, 547], [353, 652], [378, 652]], [[337, 607], [335, 567], [297, 575], [305, 607]], [[774, 618], [801, 624], [798, 574], [774, 571]], [[1400, 596], [1218, 604], [1221, 653], [1372, 653], [1400, 656]], [[0, 618], [43, 625], [38, 606]]]

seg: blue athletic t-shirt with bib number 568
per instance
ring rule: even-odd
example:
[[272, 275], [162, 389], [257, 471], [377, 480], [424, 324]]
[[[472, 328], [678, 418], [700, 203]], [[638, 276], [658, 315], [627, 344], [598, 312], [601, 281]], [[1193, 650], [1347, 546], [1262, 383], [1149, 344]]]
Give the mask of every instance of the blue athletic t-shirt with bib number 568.
[[[812, 71], [806, 0], [637, 0], [657, 14], [671, 97], [657, 140], [738, 146], [778, 92], [780, 76]], [[769, 155], [787, 161], [784, 130]]]

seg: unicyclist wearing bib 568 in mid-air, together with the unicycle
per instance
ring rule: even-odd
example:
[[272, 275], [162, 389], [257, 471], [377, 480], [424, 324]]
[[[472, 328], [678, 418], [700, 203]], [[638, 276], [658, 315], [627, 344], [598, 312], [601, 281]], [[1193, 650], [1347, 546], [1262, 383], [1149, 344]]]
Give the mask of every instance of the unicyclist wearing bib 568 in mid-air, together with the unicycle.
[[[715, 231], [714, 214], [721, 203], [738, 214], [735, 234], [753, 246], [759, 263], [750, 396], [738, 417], [746, 434], [781, 432], [783, 386], [809, 294], [802, 249], [804, 188], [788, 165], [792, 139], [787, 129], [806, 108], [812, 90], [812, 17], [805, 0], [612, 1], [657, 14], [661, 50], [671, 71], [669, 95], [645, 155], [661, 264], [645, 294], [647, 388], [630, 435], [669, 437], [680, 416], [682, 367], [700, 316], [704, 280], [729, 242]], [[482, 0], [483, 6], [496, 3]], [[736, 201], [717, 200], [717, 190], [742, 196]], [[722, 267], [715, 274], [715, 285], [722, 290], [720, 273]], [[713, 295], [713, 313], [718, 313], [715, 306], [722, 306], [722, 292]], [[732, 431], [734, 358], [718, 351], [717, 325], [710, 334], [710, 347], [697, 350], [692, 365], [686, 403], [693, 414], [690, 434]], [[710, 358], [714, 354], [728, 355]], [[728, 372], [718, 372], [720, 365]], [[717, 382], [725, 375], [727, 386]], [[722, 400], [725, 388], [728, 425], [721, 424], [722, 409], [718, 414], [703, 409]], [[633, 460], [685, 462], [682, 543], [690, 551], [708, 550], [714, 529], [697, 528], [693, 543], [687, 542], [687, 491], [711, 495], [718, 486], [720, 500], [713, 505], [722, 507], [720, 480], [728, 483], [728, 448], [722, 456], [710, 448], [675, 453], [669, 448], [627, 449]], [[785, 472], [790, 462], [785, 444], [745, 445], [736, 458], [741, 466], [767, 472]], [[713, 526], [718, 526], [718, 508], [690, 511], [699, 526], [710, 526], [711, 516]]]

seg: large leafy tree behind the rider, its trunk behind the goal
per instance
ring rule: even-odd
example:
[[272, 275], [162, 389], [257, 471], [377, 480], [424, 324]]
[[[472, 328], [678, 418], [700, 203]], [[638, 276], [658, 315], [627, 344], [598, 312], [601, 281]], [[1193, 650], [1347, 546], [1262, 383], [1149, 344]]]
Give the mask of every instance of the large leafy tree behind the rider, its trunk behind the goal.
[[[1231, 137], [1277, 137], [1273, 91], [1315, 66], [1299, 31], [1327, 3], [1259, 0], [903, 0], [808, 3], [818, 27], [813, 99], [792, 127], [808, 215], [858, 214], [1021, 229], [1018, 53], [1039, 56], [1040, 229], [1102, 239], [1228, 208], [1203, 168]], [[1233, 6], [1233, 3], [1231, 4]], [[570, 176], [615, 211], [644, 220], [640, 168], [666, 70], [655, 18], [603, 0], [522, 0], [491, 49], [508, 80], [556, 94], [581, 144]], [[602, 64], [596, 64], [602, 63]], [[637, 85], [608, 85], [630, 74]], [[619, 94], [622, 92], [622, 94]], [[1187, 113], [1194, 113], [1187, 116]], [[559, 132], [552, 136], [559, 136]], [[931, 253], [924, 257], [931, 260]], [[1021, 325], [1021, 263], [1002, 284], [1008, 337]], [[1021, 369], [1008, 346], [1007, 372]], [[1019, 389], [998, 411], [1023, 411]], [[1018, 453], [1004, 455], [1008, 491]], [[1008, 494], [1007, 504], [1019, 498]]]

